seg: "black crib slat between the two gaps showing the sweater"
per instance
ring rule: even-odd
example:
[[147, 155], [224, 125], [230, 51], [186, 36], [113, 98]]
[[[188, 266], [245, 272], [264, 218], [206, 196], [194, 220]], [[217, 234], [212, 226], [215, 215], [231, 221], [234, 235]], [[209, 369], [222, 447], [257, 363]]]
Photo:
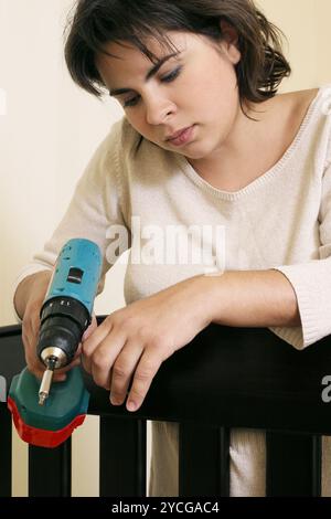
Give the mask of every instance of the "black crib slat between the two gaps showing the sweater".
[[224, 427], [180, 424], [179, 495], [229, 495], [229, 432]]

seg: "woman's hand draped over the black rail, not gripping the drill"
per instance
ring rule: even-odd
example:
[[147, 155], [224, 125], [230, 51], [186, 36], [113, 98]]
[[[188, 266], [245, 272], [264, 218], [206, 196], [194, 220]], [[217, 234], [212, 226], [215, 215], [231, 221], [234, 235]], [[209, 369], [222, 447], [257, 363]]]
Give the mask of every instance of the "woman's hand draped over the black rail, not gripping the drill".
[[212, 320], [204, 276], [178, 283], [110, 314], [83, 339], [83, 366], [96, 384], [110, 390], [114, 405], [143, 402], [161, 363]]

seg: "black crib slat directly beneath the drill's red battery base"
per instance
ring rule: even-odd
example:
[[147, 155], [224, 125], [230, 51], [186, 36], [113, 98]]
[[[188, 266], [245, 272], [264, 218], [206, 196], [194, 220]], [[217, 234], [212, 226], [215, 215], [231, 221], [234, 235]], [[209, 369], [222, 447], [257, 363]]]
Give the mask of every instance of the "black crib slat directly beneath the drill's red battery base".
[[72, 439], [55, 448], [29, 445], [29, 497], [71, 497]]

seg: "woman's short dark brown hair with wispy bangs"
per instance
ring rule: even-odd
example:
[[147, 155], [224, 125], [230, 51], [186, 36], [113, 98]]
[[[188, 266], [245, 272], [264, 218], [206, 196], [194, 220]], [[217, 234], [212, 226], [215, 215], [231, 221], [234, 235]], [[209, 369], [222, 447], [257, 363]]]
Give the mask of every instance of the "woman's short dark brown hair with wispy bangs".
[[[220, 21], [237, 32], [242, 54], [236, 65], [241, 104], [276, 95], [291, 72], [281, 50], [281, 31], [252, 0], [77, 0], [67, 25], [65, 59], [76, 84], [100, 96], [105, 85], [95, 65], [108, 42], [129, 42], [152, 62], [146, 45], [154, 36], [166, 46], [168, 31], [186, 31], [222, 41]], [[242, 105], [243, 107], [243, 105]]]

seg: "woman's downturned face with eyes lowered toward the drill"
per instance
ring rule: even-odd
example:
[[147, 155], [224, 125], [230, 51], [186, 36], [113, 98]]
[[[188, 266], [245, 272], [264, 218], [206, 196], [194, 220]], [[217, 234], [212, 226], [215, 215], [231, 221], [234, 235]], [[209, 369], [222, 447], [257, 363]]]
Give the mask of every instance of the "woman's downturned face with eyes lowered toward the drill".
[[227, 41], [216, 44], [186, 32], [168, 36], [178, 50], [172, 56], [172, 51], [149, 41], [160, 60], [157, 68], [125, 42], [109, 43], [106, 51], [118, 57], [100, 54], [96, 65], [139, 134], [186, 158], [206, 158], [229, 137], [239, 113], [234, 65], [241, 54]]

